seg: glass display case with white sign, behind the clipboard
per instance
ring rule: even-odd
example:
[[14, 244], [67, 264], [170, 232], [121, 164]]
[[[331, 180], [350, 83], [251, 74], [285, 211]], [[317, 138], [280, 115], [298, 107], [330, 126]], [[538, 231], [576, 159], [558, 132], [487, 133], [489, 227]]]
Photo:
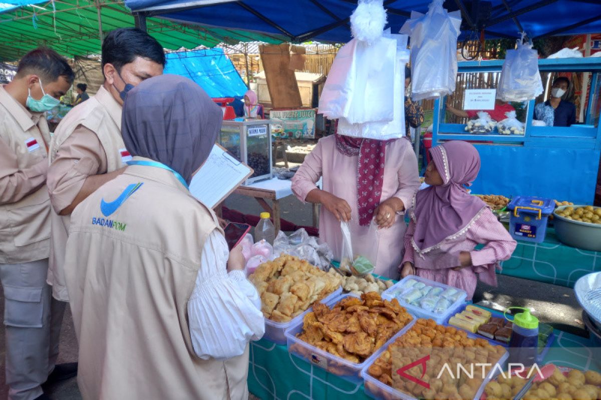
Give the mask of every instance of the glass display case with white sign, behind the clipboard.
[[272, 178], [272, 151], [270, 121], [249, 119], [224, 121], [219, 144], [237, 160], [254, 170], [245, 185]]

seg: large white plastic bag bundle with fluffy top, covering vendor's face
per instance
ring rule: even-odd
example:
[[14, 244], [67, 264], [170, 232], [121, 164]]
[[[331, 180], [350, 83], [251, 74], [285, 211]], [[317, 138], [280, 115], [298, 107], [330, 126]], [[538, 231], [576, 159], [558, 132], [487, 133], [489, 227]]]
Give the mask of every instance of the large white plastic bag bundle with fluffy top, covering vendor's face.
[[388, 140], [405, 135], [406, 35], [384, 31], [382, 0], [360, 0], [350, 17], [353, 39], [337, 53], [319, 99], [319, 113], [338, 119], [338, 133]]

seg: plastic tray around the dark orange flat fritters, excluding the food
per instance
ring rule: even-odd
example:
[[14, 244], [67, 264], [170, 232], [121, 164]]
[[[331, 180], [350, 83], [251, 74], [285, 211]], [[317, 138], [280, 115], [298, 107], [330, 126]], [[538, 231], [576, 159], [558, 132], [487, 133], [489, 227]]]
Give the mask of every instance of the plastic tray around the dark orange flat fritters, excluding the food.
[[[334, 305], [338, 303], [342, 299], [346, 299], [346, 297], [359, 297], [354, 294], [347, 293], [343, 294], [336, 299], [332, 299], [327, 303], [329, 308], [334, 308]], [[412, 315], [413, 317], [413, 315]], [[400, 331], [398, 331], [397, 335], [401, 333], [407, 332], [409, 328], [415, 323], [415, 318], [413, 318], [406, 326], [403, 327]], [[312, 365], [319, 366], [320, 368], [325, 369], [331, 374], [338, 375], [341, 377], [345, 377], [347, 380], [354, 381], [359, 383], [361, 381], [360, 373], [361, 369], [364, 368], [368, 363], [373, 362], [383, 351], [383, 349], [387, 348], [391, 343], [392, 338], [382, 345], [379, 349], [374, 351], [370, 357], [365, 359], [364, 362], [360, 364], [356, 364], [345, 360], [341, 357], [334, 356], [334, 354], [328, 353], [328, 351], [324, 351], [320, 348], [314, 347], [313, 345], [308, 344], [305, 341], [297, 338], [296, 335], [302, 332], [302, 321], [296, 326], [291, 327], [285, 333], [286, 339], [288, 342], [288, 352], [294, 354], [295, 356], [306, 360]], [[394, 336], [392, 336], [394, 338]]]

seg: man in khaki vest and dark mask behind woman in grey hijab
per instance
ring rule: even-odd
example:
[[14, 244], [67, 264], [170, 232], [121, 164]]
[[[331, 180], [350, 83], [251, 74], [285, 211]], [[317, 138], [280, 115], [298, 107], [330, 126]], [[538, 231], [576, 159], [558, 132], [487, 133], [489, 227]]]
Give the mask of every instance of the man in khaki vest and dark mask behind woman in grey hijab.
[[146, 32], [134, 28], [110, 32], [102, 43], [104, 84], [56, 128], [47, 179], [53, 208], [47, 281], [57, 300], [69, 301], [63, 264], [70, 214], [97, 188], [123, 172], [131, 157], [121, 139], [121, 106], [127, 91], [162, 74], [164, 66], [163, 48]]

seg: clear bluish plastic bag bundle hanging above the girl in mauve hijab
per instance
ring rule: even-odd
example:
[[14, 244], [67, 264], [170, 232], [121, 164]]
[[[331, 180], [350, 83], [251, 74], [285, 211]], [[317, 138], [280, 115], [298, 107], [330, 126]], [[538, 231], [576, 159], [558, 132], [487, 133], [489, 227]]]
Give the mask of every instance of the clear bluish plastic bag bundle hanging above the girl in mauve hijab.
[[448, 13], [442, 2], [432, 1], [426, 14], [412, 11], [401, 28], [401, 34], [411, 37], [413, 100], [438, 98], [455, 91], [461, 11]]

